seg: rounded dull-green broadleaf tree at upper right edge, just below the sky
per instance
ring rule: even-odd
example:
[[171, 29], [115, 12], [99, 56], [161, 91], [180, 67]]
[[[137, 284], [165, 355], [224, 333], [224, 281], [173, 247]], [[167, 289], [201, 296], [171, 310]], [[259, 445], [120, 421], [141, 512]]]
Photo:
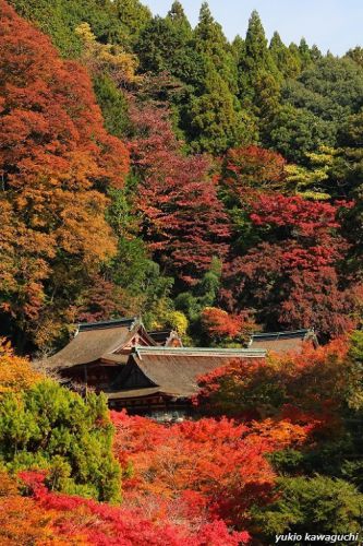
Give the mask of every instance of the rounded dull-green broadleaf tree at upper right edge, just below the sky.
[[328, 56], [288, 80], [281, 94], [282, 108], [267, 128], [266, 144], [304, 164], [307, 152], [337, 147], [347, 118], [360, 111], [363, 70], [351, 59]]

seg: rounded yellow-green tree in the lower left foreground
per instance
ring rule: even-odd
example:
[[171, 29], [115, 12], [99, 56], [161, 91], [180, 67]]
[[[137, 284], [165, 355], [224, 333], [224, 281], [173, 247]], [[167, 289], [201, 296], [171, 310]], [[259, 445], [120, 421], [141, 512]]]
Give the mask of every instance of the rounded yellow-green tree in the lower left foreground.
[[112, 455], [113, 427], [106, 399], [83, 400], [50, 380], [0, 397], [0, 459], [12, 472], [48, 471], [65, 492], [118, 500], [120, 468]]

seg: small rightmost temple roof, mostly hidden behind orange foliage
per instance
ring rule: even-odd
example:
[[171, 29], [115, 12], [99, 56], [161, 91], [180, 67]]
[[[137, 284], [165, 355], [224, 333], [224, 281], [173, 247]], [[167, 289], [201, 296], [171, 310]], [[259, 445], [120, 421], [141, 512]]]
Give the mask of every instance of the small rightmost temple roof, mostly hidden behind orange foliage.
[[291, 352], [301, 353], [306, 342], [317, 345], [314, 330], [257, 333], [252, 335], [250, 348], [265, 348], [283, 355]]

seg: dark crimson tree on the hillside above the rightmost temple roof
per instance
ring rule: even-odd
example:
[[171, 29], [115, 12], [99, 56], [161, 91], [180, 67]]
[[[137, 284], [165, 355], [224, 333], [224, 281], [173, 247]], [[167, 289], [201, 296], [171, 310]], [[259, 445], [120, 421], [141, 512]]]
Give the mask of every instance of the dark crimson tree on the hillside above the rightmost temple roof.
[[340, 274], [349, 249], [340, 204], [259, 194], [251, 207], [263, 242], [225, 268], [230, 308], [263, 309], [269, 329], [315, 327], [325, 339], [353, 328], [355, 286]]

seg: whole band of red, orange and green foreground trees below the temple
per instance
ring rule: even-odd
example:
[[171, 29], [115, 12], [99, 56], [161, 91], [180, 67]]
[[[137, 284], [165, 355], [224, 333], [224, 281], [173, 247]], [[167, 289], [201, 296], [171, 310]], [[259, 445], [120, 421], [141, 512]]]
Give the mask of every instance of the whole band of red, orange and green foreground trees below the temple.
[[164, 425], [109, 413], [3, 344], [1, 542], [237, 546], [359, 532], [362, 332], [256, 361], [201, 378], [205, 417]]

